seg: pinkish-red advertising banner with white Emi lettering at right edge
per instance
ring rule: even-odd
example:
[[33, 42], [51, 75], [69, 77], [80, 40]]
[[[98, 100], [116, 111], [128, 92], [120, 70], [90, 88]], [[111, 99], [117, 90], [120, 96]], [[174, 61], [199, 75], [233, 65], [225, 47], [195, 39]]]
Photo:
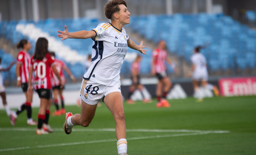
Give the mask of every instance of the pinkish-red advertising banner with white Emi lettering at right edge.
[[256, 77], [221, 78], [219, 88], [222, 96], [256, 95]]

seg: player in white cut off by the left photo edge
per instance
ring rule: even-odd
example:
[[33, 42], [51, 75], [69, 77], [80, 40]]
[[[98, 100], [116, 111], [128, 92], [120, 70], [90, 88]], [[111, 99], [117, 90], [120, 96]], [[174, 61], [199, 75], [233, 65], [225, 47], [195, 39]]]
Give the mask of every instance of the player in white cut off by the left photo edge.
[[2, 76], [1, 72], [2, 71], [9, 71], [10, 68], [15, 64], [15, 62], [12, 62], [10, 64], [10, 66], [7, 67], [7, 68], [2, 68], [1, 62], [2, 62], [2, 59], [0, 58], [0, 95], [1, 95], [2, 100], [3, 100], [3, 105], [4, 105], [4, 109], [6, 111], [6, 114], [7, 114], [7, 116], [10, 116], [11, 110], [10, 110], [10, 107], [7, 105], [7, 102], [6, 102], [4, 79], [3, 79], [3, 76]]

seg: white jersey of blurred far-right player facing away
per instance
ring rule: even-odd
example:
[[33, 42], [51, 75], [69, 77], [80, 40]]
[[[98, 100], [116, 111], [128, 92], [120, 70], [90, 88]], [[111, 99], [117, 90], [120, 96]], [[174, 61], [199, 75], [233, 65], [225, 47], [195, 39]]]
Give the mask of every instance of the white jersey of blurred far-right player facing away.
[[192, 63], [195, 65], [195, 70], [192, 75], [193, 79], [196, 80], [207, 80], [208, 79], [208, 72], [206, 67], [206, 58], [201, 53], [195, 53], [191, 57]]

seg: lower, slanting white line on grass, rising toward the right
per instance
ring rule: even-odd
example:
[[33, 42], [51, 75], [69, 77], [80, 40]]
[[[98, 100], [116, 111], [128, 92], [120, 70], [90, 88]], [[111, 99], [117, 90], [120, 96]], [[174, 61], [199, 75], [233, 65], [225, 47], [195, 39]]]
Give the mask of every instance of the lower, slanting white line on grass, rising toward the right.
[[[149, 139], [149, 138], [165, 138], [165, 137], [177, 137], [177, 136], [190, 136], [190, 135], [203, 135], [209, 133], [186, 133], [186, 134], [176, 134], [176, 135], [157, 135], [157, 136], [147, 136], [147, 137], [134, 137], [134, 138], [127, 138], [127, 140], [137, 140], [137, 139]], [[60, 143], [60, 144], [51, 144], [51, 145], [41, 145], [35, 147], [18, 147], [18, 148], [10, 148], [10, 149], [0, 149], [2, 151], [13, 151], [13, 150], [23, 150], [23, 149], [36, 149], [36, 148], [45, 148], [45, 147], [53, 147], [53, 146], [67, 146], [67, 145], [78, 145], [78, 144], [89, 144], [89, 143], [101, 143], [101, 142], [110, 142], [116, 141], [116, 139], [109, 139], [109, 140], [101, 140], [101, 141], [87, 141], [87, 142], [73, 142], [73, 143]]]

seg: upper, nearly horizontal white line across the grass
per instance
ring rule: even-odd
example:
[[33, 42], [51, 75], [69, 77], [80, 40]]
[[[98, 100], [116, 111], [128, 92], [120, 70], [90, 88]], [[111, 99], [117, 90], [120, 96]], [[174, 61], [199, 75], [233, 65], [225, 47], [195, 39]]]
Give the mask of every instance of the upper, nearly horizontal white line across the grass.
[[[0, 131], [35, 131], [35, 128], [0, 128]], [[53, 128], [63, 131], [63, 128]], [[72, 131], [116, 131], [115, 128], [73, 129]], [[127, 132], [195, 132], [195, 133], [229, 133], [227, 130], [187, 130], [187, 129], [126, 129]]]

